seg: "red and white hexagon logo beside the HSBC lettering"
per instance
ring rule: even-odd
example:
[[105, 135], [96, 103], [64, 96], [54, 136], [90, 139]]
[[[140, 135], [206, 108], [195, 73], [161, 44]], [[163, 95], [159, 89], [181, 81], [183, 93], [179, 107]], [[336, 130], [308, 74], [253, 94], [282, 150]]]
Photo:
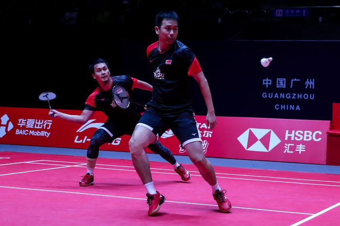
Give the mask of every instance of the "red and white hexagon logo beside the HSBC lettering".
[[270, 152], [281, 140], [271, 129], [247, 129], [238, 141], [247, 151]]

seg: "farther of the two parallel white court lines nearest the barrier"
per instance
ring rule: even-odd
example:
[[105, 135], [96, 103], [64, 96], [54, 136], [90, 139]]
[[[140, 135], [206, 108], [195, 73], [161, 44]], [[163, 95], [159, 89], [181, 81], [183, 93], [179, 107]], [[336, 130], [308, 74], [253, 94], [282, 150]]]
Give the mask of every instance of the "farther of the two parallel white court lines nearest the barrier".
[[[81, 162], [68, 162], [68, 161], [54, 161], [54, 160], [37, 160], [37, 161], [50, 161], [50, 162], [65, 162], [65, 163], [75, 163], [81, 164]], [[121, 165], [108, 165], [108, 164], [96, 164], [101, 166], [114, 166], [114, 167], [127, 167], [127, 168], [134, 168], [133, 166], [121, 166]], [[101, 168], [106, 169], [106, 168]], [[173, 171], [172, 169], [160, 169], [160, 168], [150, 168], [151, 170], [166, 170], [166, 171]], [[190, 171], [190, 173], [199, 173], [198, 171]], [[312, 180], [312, 179], [301, 179], [301, 178], [289, 178], [289, 177], [274, 177], [274, 176], [258, 176], [258, 175], [247, 175], [247, 174], [226, 174], [226, 173], [217, 173], [222, 175], [235, 175], [235, 176], [249, 176], [249, 177], [263, 177], [263, 178], [273, 178], [273, 179], [287, 179], [287, 180], [304, 180], [304, 181], [315, 181], [315, 182], [331, 182], [331, 183], [340, 183], [340, 181], [331, 181], [331, 180]], [[224, 177], [221, 177], [224, 178]], [[233, 178], [233, 177], [225, 177], [225, 178]]]

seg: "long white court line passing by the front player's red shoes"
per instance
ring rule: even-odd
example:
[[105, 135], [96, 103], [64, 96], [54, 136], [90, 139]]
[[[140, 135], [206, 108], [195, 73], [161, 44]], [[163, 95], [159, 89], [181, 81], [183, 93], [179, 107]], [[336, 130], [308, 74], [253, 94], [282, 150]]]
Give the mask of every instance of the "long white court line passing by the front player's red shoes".
[[[126, 197], [126, 196], [107, 195], [107, 194], [92, 194], [92, 193], [83, 193], [83, 192], [74, 192], [74, 191], [56, 191], [56, 190], [30, 189], [30, 188], [18, 188], [18, 187], [7, 187], [7, 186], [0, 186], [0, 188], [21, 189], [21, 190], [31, 190], [31, 191], [49, 191], [49, 192], [60, 192], [60, 193], [70, 193], [70, 194], [85, 194], [85, 195], [113, 197], [113, 198], [126, 198], [126, 199], [146, 200], [146, 198], [135, 198], [135, 197]], [[178, 201], [168, 201], [168, 200], [166, 200], [165, 202], [217, 207], [217, 205], [204, 204], [204, 203], [188, 203], [188, 202], [178, 202]], [[271, 212], [282, 212], [282, 213], [294, 213], [294, 214], [313, 215], [313, 213], [301, 213], [301, 212], [291, 212], [291, 211], [272, 210], [272, 209], [255, 209], [255, 208], [243, 208], [243, 207], [233, 207], [233, 208], [234, 209], [251, 209], [251, 210], [262, 210], [262, 211], [271, 211]]]

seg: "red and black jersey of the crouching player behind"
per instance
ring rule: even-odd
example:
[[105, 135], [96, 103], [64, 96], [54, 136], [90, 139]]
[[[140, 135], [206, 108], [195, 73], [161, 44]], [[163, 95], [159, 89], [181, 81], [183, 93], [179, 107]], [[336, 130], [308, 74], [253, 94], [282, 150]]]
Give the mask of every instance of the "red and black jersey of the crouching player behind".
[[[127, 75], [111, 76], [110, 79], [113, 80], [112, 87], [119, 85], [124, 87], [129, 93], [131, 93], [137, 83], [135, 78]], [[85, 110], [102, 111], [108, 117], [123, 117], [121, 119], [128, 119], [132, 116], [140, 117], [140, 113], [135, 110], [133, 104], [130, 104], [130, 106], [125, 110], [120, 109], [119, 106], [117, 106], [117, 104], [113, 101], [112, 87], [107, 91], [103, 91], [100, 87], [97, 87], [88, 96], [85, 102]]]

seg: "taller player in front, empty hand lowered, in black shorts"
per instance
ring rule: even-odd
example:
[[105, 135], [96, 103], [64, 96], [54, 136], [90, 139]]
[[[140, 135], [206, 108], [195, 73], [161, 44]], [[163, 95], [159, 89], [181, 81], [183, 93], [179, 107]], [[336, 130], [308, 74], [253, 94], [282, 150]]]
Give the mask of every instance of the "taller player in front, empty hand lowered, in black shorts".
[[221, 190], [212, 164], [205, 158], [200, 132], [194, 118], [189, 92], [193, 77], [203, 94], [207, 107], [206, 123], [216, 126], [216, 116], [208, 82], [194, 53], [178, 41], [178, 16], [175, 12], [160, 12], [156, 16], [155, 32], [158, 41], [147, 48], [153, 72], [153, 95], [149, 108], [136, 125], [129, 141], [130, 152], [138, 174], [148, 190], [149, 215], [155, 214], [164, 202], [164, 196], [155, 190], [144, 148], [159, 135], [171, 129], [186, 149], [187, 155], [211, 186], [213, 197], [221, 212], [228, 212], [231, 204]]

